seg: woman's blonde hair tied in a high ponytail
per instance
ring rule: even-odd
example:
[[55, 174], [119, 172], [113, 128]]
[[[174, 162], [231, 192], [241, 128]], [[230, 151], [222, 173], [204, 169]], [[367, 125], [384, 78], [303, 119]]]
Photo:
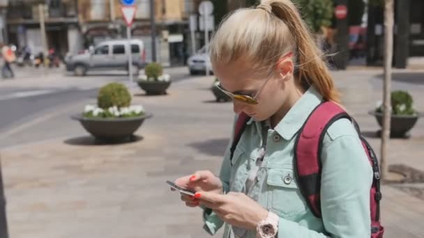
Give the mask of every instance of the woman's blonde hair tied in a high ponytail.
[[264, 0], [256, 8], [236, 10], [221, 22], [209, 50], [213, 64], [243, 58], [268, 72], [292, 51], [298, 83], [305, 89], [312, 84], [325, 100], [339, 102], [324, 54], [290, 0]]

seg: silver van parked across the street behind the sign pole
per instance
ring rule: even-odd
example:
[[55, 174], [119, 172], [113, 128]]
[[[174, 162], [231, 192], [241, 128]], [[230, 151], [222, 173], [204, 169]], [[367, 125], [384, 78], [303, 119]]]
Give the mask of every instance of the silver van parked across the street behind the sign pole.
[[128, 54], [131, 48], [132, 65], [136, 72], [146, 64], [146, 51], [142, 40], [107, 40], [93, 49], [75, 56], [66, 56], [66, 70], [83, 76], [89, 70], [128, 70]]

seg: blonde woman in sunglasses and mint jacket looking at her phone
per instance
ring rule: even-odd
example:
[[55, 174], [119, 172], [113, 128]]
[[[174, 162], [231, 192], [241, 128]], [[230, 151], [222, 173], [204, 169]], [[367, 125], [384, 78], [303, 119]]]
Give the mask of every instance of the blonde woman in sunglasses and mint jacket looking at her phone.
[[230, 143], [218, 177], [197, 171], [175, 181], [197, 191], [181, 199], [204, 208], [204, 228], [214, 234], [225, 223], [225, 237], [370, 237], [372, 169], [349, 120], [335, 121], [323, 138], [322, 218], [298, 189], [296, 132], [323, 100], [339, 99], [294, 4], [268, 0], [237, 10], [220, 25], [210, 51], [234, 112], [252, 119], [231, 163]]

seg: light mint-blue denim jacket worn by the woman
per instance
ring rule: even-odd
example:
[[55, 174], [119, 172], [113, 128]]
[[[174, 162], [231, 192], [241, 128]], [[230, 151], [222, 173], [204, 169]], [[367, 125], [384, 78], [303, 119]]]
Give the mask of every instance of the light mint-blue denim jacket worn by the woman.
[[[234, 151], [233, 166], [229, 161], [232, 140], [225, 152], [220, 170], [224, 192], [245, 192], [249, 170], [255, 166], [264, 139], [266, 154], [248, 196], [280, 216], [278, 238], [370, 237], [372, 168], [351, 121], [334, 122], [324, 136], [322, 219], [312, 214], [298, 189], [293, 161], [296, 134], [321, 100], [319, 92], [311, 87], [274, 129], [268, 129], [267, 138], [262, 138], [262, 123], [250, 120]], [[292, 180], [284, 181], [287, 176]], [[211, 235], [224, 224], [213, 212], [204, 212], [204, 223]], [[256, 231], [225, 224], [225, 238], [240, 234], [254, 238]]]

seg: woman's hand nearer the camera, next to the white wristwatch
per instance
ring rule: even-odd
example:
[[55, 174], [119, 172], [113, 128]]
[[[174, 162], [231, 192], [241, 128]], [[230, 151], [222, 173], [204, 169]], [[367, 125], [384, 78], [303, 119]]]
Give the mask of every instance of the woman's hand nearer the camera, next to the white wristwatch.
[[195, 198], [201, 205], [211, 208], [222, 221], [239, 228], [255, 230], [259, 221], [268, 216], [264, 207], [244, 193], [197, 192]]

